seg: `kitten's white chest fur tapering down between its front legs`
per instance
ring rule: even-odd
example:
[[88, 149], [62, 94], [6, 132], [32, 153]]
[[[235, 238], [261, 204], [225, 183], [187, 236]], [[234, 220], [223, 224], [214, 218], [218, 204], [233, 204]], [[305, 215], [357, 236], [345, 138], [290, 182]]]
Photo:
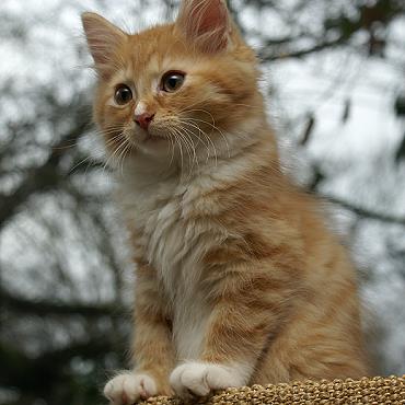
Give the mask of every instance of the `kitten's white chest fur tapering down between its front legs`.
[[198, 286], [200, 258], [215, 243], [207, 238], [207, 229], [189, 216], [200, 188], [182, 184], [176, 175], [158, 182], [134, 172], [127, 177], [120, 202], [139, 235], [135, 248], [157, 270], [159, 284], [171, 301], [177, 357], [197, 359], [210, 313]]

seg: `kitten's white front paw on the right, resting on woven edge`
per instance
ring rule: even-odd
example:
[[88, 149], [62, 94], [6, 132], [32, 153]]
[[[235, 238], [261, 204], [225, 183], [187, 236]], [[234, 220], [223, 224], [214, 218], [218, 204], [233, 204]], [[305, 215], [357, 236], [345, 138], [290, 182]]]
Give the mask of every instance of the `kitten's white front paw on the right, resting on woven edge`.
[[170, 377], [173, 390], [183, 398], [190, 394], [205, 396], [212, 390], [243, 386], [246, 383], [244, 380], [235, 368], [197, 361], [176, 367]]

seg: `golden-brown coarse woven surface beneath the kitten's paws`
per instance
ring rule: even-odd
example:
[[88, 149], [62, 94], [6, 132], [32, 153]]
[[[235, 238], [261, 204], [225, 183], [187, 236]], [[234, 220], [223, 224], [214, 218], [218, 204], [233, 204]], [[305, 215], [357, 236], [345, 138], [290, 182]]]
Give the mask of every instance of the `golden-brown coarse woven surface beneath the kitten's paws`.
[[[363, 378], [359, 381], [305, 381], [290, 384], [253, 385], [242, 389], [229, 389], [209, 398], [195, 401], [194, 404], [233, 405], [233, 404], [390, 404], [405, 405], [405, 375]], [[159, 396], [142, 402], [143, 405], [180, 405], [175, 398]]]

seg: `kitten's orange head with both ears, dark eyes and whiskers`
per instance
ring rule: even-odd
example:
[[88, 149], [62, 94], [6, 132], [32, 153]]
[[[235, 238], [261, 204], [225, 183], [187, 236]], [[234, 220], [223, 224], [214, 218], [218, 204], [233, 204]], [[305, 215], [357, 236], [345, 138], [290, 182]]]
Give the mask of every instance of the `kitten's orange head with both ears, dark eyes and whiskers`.
[[174, 23], [135, 35], [94, 13], [82, 21], [99, 77], [94, 117], [109, 152], [209, 154], [259, 117], [256, 58], [223, 0], [184, 0]]

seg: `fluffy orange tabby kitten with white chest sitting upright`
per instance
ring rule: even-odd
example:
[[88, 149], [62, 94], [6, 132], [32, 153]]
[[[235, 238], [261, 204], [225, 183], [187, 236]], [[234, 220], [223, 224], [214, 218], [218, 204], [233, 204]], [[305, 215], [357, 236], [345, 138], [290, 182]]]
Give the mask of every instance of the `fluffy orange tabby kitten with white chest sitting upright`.
[[93, 13], [83, 26], [137, 263], [136, 367], [105, 395], [364, 375], [354, 267], [280, 171], [224, 1], [183, 0], [175, 23], [136, 35]]

